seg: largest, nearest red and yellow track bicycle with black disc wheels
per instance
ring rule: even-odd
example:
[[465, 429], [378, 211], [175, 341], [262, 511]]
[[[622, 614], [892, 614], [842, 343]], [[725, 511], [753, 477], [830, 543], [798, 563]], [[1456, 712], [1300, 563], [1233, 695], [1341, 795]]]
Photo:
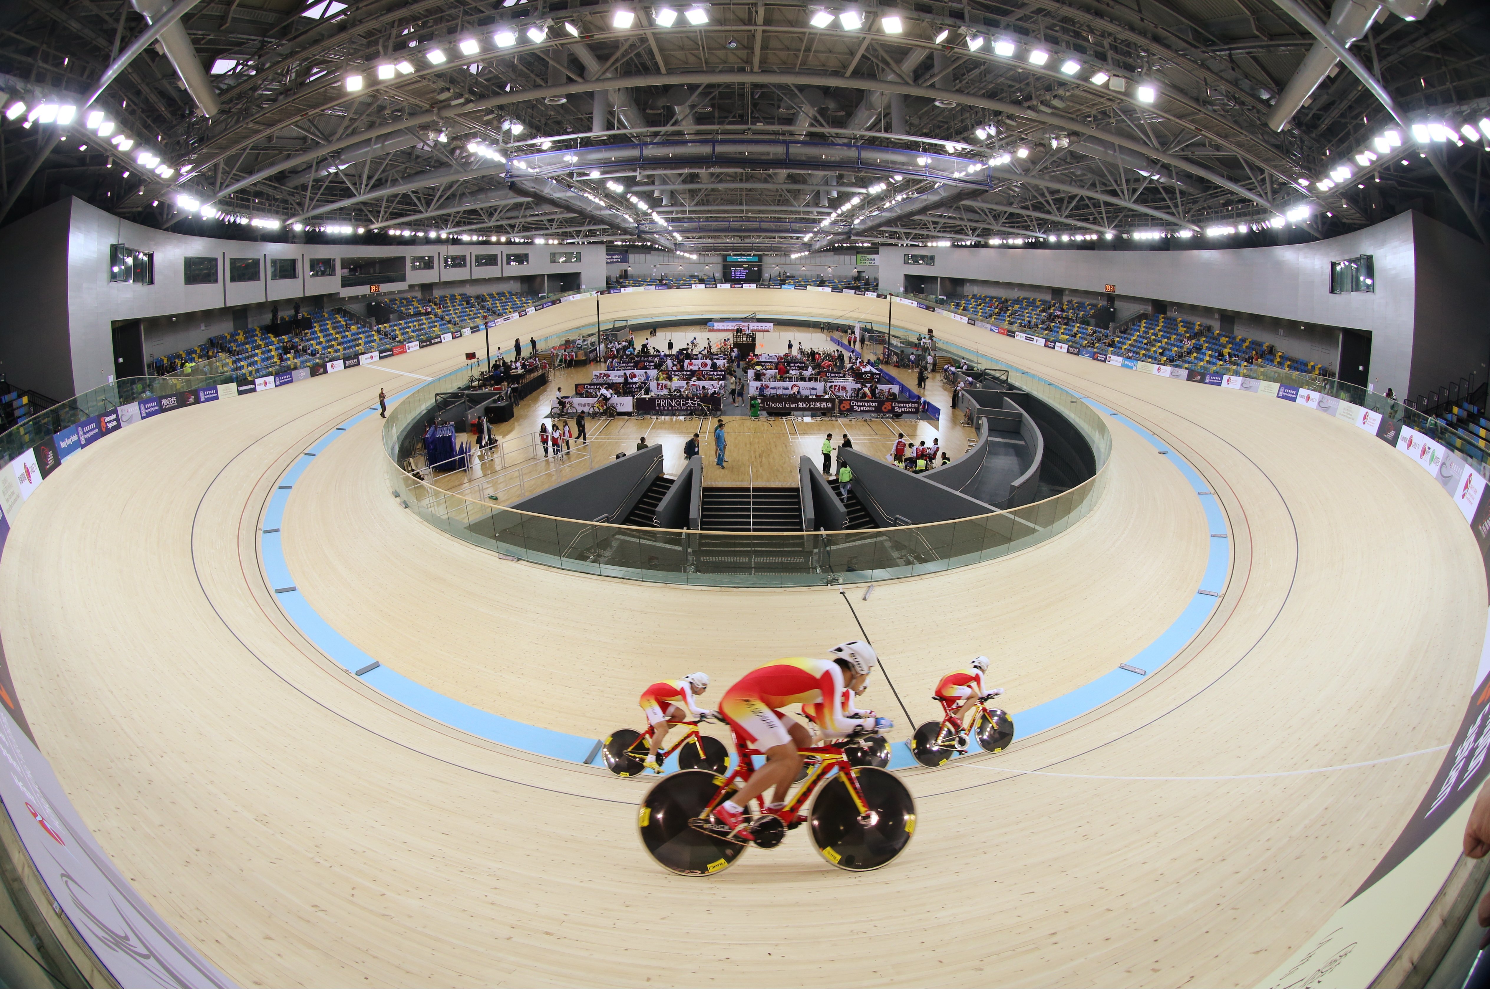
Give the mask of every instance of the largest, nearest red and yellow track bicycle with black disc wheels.
[[[738, 758], [729, 776], [684, 770], [660, 779], [638, 810], [642, 846], [657, 862], [679, 876], [724, 871], [751, 845], [776, 848], [802, 824], [812, 846], [827, 862], [854, 873], [888, 865], [906, 850], [916, 830], [916, 806], [900, 777], [876, 766], [854, 766], [842, 745], [799, 749], [808, 775], [779, 812], [751, 818], [749, 839], [729, 837], [714, 810], [755, 772], [763, 755], [736, 734]], [[803, 812], [805, 807], [811, 807]]]

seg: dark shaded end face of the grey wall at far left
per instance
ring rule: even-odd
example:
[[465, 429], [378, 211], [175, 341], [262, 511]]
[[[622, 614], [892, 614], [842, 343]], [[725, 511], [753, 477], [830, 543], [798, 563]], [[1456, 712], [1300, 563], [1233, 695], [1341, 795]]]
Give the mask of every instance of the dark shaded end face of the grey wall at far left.
[[[0, 234], [0, 273], [9, 284], [0, 316], [0, 378], [58, 401], [82, 390], [73, 386], [67, 338], [67, 214], [73, 203], [54, 203]], [[109, 346], [112, 350], [112, 338]], [[112, 357], [104, 366], [109, 363]]]

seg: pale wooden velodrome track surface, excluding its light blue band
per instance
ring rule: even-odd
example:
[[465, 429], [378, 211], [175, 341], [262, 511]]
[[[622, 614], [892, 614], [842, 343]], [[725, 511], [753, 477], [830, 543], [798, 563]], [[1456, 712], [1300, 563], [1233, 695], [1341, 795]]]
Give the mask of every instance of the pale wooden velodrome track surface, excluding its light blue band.
[[[718, 307], [603, 302], [705, 298]], [[749, 305], [884, 319], [848, 295]], [[517, 326], [592, 317], [584, 301]], [[1164, 438], [1220, 496], [1232, 572], [1135, 690], [1001, 755], [907, 773], [919, 827], [891, 867], [842, 873], [793, 836], [708, 880], [666, 874], [635, 837], [644, 782], [434, 722], [283, 617], [258, 559], [282, 471], [378, 387], [419, 384], [393, 369], [443, 374], [459, 346], [152, 419], [37, 489], [0, 566], [0, 627], [42, 751], [124, 874], [241, 985], [1255, 985], [1371, 871], [1441, 757], [1265, 775], [1453, 736], [1484, 637], [1463, 518], [1328, 416], [895, 317]], [[286, 557], [334, 627], [435, 690], [597, 737], [638, 719], [657, 676], [723, 687], [857, 635], [831, 588], [645, 585], [457, 542], [390, 496], [380, 424], [307, 469]], [[1071, 532], [851, 591], [916, 719], [971, 654], [1019, 710], [1113, 669], [1191, 599], [1195, 496], [1131, 430], [1113, 444], [1107, 496]], [[904, 737], [882, 679], [867, 700]]]

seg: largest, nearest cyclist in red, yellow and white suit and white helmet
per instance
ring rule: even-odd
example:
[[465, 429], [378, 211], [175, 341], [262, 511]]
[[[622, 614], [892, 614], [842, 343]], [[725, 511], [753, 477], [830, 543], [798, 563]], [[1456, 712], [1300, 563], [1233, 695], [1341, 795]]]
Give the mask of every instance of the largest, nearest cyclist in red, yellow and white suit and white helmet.
[[[781, 816], [787, 806], [787, 791], [802, 769], [799, 748], [812, 745], [808, 730], [781, 709], [787, 705], [818, 705], [818, 728], [825, 736], [851, 731], [885, 731], [888, 718], [873, 712], [849, 718], [843, 710], [845, 691], [861, 691], [870, 670], [879, 661], [866, 642], [845, 642], [831, 651], [830, 660], [790, 658], [758, 666], [724, 693], [720, 715], [755, 751], [766, 754], [766, 764], [751, 775], [732, 800], [714, 812], [732, 837], [751, 839], [745, 822], [749, 801], [775, 786], [775, 800], [766, 813]], [[788, 822], [790, 824], [790, 822]]]

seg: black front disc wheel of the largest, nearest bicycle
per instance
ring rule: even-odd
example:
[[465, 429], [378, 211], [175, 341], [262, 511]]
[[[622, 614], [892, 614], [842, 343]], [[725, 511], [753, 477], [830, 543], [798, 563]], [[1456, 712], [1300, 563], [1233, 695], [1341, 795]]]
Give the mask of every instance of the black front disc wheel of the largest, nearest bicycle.
[[842, 775], [828, 780], [812, 800], [812, 845], [833, 865], [867, 873], [906, 850], [916, 831], [916, 804], [888, 770], [858, 766], [849, 772], [864, 791], [869, 812], [860, 813]]

